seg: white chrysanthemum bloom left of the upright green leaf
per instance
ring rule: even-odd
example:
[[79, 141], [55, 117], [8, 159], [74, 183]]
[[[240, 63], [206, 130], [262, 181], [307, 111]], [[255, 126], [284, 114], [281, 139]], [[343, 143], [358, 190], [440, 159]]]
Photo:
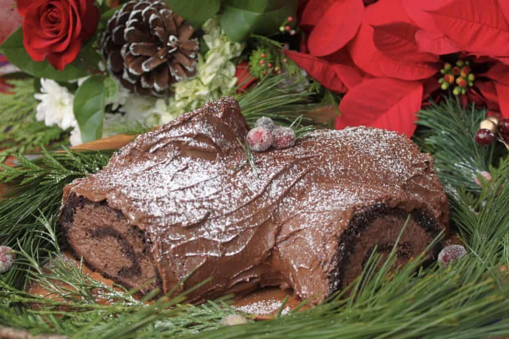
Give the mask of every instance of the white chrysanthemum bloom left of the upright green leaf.
[[41, 78], [41, 92], [35, 95], [41, 102], [37, 105], [36, 119], [46, 126], [58, 125], [68, 129], [76, 125], [72, 103], [74, 95], [51, 79]]

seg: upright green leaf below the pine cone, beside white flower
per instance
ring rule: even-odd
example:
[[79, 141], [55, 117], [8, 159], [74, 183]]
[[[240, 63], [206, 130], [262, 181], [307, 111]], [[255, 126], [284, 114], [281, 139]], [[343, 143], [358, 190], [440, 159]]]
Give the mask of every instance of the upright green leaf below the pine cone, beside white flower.
[[104, 80], [96, 75], [87, 79], [76, 91], [73, 103], [81, 140], [88, 143], [102, 136], [104, 120]]

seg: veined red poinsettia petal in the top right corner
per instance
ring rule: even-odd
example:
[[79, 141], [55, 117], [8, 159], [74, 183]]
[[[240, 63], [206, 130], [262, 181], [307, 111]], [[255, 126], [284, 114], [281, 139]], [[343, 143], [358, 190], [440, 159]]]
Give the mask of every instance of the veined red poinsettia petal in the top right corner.
[[509, 54], [509, 24], [498, 0], [453, 0], [429, 13], [461, 49], [485, 55]]

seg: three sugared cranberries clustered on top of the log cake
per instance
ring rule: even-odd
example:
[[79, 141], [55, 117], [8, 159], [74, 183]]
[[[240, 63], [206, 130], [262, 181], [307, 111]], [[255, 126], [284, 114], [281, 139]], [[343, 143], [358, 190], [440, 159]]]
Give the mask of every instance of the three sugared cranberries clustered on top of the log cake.
[[295, 132], [289, 127], [276, 126], [272, 119], [262, 117], [247, 133], [247, 142], [254, 152], [267, 151], [271, 146], [276, 150], [285, 149], [295, 144]]

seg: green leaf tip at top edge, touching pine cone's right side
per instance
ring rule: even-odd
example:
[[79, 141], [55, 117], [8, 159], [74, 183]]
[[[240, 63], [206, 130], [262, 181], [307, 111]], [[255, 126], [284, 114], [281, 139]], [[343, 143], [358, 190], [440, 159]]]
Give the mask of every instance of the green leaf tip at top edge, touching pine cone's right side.
[[196, 30], [219, 11], [219, 0], [165, 0], [169, 8], [186, 19]]

